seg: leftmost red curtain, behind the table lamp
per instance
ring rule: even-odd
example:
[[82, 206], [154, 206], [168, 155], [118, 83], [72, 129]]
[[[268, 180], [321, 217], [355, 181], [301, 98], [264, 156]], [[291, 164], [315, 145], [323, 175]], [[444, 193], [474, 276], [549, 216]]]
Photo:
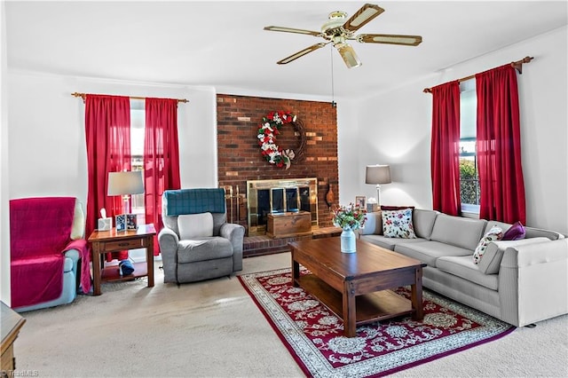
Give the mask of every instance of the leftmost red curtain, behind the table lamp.
[[[99, 211], [106, 209], [107, 217], [122, 212], [120, 197], [107, 193], [108, 172], [130, 170], [130, 98], [87, 95], [85, 98], [85, 134], [89, 188], [85, 235], [95, 230]], [[107, 254], [106, 261], [128, 258], [128, 252]]]

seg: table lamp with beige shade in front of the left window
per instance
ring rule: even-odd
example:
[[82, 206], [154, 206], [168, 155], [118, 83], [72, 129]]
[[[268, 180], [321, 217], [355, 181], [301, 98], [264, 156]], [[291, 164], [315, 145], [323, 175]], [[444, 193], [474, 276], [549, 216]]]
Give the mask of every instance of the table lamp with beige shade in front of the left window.
[[116, 231], [136, 229], [136, 215], [130, 214], [130, 194], [144, 193], [142, 171], [108, 173], [108, 195], [122, 195], [123, 213], [116, 216]]

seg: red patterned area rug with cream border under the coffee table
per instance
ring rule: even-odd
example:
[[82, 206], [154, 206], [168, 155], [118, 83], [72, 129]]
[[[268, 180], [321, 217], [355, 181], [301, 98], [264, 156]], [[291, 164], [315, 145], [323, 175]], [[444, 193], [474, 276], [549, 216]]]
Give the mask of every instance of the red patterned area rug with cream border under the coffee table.
[[[306, 270], [302, 274], [311, 274]], [[282, 343], [313, 377], [375, 377], [508, 335], [515, 327], [441, 295], [423, 291], [424, 319], [410, 317], [357, 327], [343, 336], [343, 320], [300, 287], [290, 269], [239, 276]], [[410, 297], [408, 287], [395, 290]]]

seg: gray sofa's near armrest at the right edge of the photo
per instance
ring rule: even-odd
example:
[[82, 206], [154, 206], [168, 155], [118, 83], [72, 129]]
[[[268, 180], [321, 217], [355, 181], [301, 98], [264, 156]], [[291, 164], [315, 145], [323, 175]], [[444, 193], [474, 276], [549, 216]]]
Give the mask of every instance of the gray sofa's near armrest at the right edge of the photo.
[[509, 247], [499, 271], [501, 319], [523, 327], [568, 313], [568, 239]]

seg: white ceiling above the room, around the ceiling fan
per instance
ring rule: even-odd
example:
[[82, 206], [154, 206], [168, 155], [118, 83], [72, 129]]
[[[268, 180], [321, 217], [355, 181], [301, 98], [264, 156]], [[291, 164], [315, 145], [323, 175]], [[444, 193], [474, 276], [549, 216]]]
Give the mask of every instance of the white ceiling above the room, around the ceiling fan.
[[363, 66], [348, 69], [331, 44], [277, 65], [323, 40], [263, 28], [319, 31], [330, 12], [350, 17], [364, 1], [6, 1], [8, 67], [328, 98], [333, 58], [335, 98], [361, 98], [561, 28], [568, 19], [566, 1], [373, 3], [385, 12], [358, 34], [422, 35], [423, 42], [352, 42]]

